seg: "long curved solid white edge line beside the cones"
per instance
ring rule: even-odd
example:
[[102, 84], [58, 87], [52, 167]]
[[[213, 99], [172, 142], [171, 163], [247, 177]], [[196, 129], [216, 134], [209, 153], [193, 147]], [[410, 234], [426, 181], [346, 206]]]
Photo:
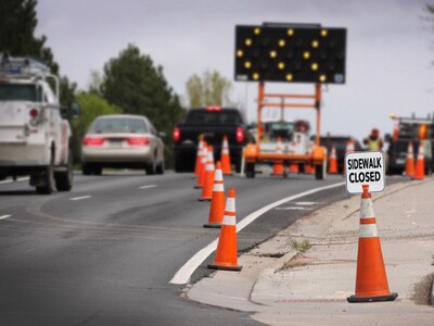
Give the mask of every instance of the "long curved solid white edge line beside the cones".
[[[308, 195], [312, 195], [322, 190], [328, 190], [336, 187], [344, 186], [345, 181], [326, 186], [326, 187], [320, 187], [320, 188], [315, 188], [311, 190], [307, 190], [291, 197], [283, 198], [281, 200], [278, 200], [273, 203], [270, 203], [256, 212], [251, 213], [247, 215], [245, 218], [243, 218], [240, 223], [237, 225], [237, 233], [241, 231], [244, 227], [246, 227], [248, 224], [254, 222], [256, 218], [258, 218], [260, 215], [264, 213], [268, 212], [269, 210], [272, 210], [276, 206], [279, 206], [288, 201], [295, 200]], [[191, 275], [194, 273], [194, 271], [206, 260], [206, 258], [217, 248], [218, 243], [218, 238], [215, 239], [213, 242], [210, 242], [208, 246], [205, 248], [201, 249], [197, 251], [179, 271], [175, 274], [175, 276], [170, 279], [170, 284], [188, 284], [190, 281]]]

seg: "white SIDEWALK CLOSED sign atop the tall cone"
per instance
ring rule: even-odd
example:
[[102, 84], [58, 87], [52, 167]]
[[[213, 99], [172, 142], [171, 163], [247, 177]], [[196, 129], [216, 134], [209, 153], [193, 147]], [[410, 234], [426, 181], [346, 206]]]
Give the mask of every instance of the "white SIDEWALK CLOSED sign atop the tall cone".
[[346, 190], [362, 193], [362, 185], [369, 192], [381, 192], [385, 187], [384, 154], [378, 152], [350, 152], [345, 155]]

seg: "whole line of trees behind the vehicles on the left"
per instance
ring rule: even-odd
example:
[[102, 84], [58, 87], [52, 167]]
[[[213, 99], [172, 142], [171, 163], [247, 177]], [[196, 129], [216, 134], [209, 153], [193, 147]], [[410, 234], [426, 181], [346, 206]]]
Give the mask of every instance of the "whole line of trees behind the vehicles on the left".
[[60, 74], [60, 65], [52, 50], [46, 45], [47, 36], [35, 36], [38, 24], [37, 0], [0, 0], [0, 51], [12, 57], [34, 57], [44, 61], [61, 83], [61, 104], [69, 108], [77, 102], [81, 108], [78, 118], [71, 118], [73, 147], [79, 163], [80, 142], [90, 123], [99, 115], [145, 115], [158, 131], [163, 131], [166, 146], [166, 165], [173, 166], [171, 133], [189, 108], [204, 105], [233, 105], [229, 98], [231, 82], [217, 71], [194, 74], [186, 83], [186, 100], [168, 85], [163, 66], [150, 55], [128, 43], [117, 57], [103, 66], [102, 74], [90, 72], [91, 83], [86, 90]]

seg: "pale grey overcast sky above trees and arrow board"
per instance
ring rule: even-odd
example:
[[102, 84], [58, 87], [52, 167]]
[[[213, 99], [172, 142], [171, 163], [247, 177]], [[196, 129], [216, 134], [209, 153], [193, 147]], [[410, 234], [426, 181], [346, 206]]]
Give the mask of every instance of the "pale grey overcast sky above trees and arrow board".
[[[184, 96], [194, 73], [217, 70], [233, 82], [234, 26], [263, 22], [320, 23], [347, 28], [346, 84], [323, 93], [322, 134], [361, 139], [391, 133], [391, 112], [434, 112], [434, 30], [423, 20], [432, 0], [39, 0], [37, 35], [81, 89], [128, 43], [151, 55]], [[267, 91], [310, 92], [312, 86], [267, 84]], [[232, 98], [256, 120], [256, 83], [233, 82]], [[306, 110], [290, 112], [309, 118]]]

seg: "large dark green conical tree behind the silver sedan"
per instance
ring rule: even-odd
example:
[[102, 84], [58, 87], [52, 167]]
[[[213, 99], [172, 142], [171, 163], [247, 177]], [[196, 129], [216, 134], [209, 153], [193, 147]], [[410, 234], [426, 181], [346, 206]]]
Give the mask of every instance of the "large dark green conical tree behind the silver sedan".
[[104, 65], [101, 92], [124, 113], [145, 115], [158, 131], [166, 134], [166, 164], [173, 165], [171, 131], [184, 111], [168, 86], [162, 66], [133, 45]]

